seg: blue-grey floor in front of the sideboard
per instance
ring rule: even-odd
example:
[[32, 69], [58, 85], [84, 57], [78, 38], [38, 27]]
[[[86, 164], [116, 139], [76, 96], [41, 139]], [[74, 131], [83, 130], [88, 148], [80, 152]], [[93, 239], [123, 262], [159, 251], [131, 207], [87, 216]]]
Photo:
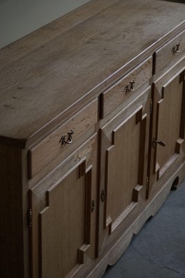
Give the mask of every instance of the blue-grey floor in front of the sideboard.
[[103, 278], [185, 278], [185, 181]]

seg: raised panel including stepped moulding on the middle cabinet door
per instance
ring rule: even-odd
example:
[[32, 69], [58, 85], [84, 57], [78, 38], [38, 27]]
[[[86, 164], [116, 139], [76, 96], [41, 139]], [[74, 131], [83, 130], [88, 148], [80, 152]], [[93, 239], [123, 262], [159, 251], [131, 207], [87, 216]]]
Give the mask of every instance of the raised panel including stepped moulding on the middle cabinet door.
[[[112, 131], [112, 146], [106, 152], [107, 224], [114, 231], [121, 218], [136, 206], [143, 185], [146, 115], [142, 108]], [[125, 209], [127, 210], [125, 211]]]

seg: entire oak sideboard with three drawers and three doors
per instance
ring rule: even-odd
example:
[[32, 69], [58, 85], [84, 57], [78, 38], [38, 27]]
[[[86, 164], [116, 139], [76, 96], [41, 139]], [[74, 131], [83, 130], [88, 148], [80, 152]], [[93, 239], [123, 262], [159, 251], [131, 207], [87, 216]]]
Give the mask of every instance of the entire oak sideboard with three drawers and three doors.
[[185, 179], [185, 5], [92, 0], [0, 50], [0, 276], [98, 278]]

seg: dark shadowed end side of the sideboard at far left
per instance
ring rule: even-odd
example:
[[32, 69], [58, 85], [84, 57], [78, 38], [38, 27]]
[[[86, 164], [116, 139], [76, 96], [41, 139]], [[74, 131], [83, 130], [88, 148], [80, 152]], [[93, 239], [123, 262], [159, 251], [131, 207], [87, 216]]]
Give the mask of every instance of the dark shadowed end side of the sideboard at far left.
[[21, 149], [0, 145], [0, 276], [24, 277]]

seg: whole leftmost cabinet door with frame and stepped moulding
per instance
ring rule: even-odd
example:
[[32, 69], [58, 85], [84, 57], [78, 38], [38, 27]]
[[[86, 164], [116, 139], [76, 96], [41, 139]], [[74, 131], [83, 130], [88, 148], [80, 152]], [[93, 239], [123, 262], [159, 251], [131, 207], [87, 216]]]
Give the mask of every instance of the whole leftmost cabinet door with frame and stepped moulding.
[[95, 258], [96, 136], [29, 192], [30, 277], [78, 277]]

